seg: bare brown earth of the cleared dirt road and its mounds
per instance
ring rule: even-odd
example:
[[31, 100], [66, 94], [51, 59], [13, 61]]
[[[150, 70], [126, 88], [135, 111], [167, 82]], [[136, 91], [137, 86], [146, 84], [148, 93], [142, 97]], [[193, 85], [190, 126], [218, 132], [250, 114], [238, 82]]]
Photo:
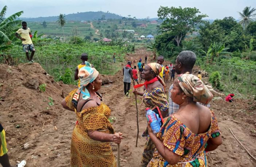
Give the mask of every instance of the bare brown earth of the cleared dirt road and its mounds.
[[[145, 55], [150, 53], [139, 49], [127, 56], [127, 60], [139, 60], [139, 57], [144, 59]], [[151, 61], [150, 57], [148, 61]], [[24, 87], [23, 82], [29, 77], [38, 79], [39, 84], [46, 83], [46, 92]], [[135, 98], [134, 95], [124, 96], [121, 71], [115, 77], [116, 81], [103, 85], [100, 93], [104, 103], [112, 110], [110, 118], [113, 120], [115, 131], [123, 132], [124, 139], [120, 144], [121, 166], [138, 167], [145, 143], [145, 138], [141, 137], [147, 125], [145, 107], [141, 97], [138, 97], [140, 132], [138, 147], [135, 147], [137, 135]], [[62, 94], [66, 95], [75, 86], [54, 82], [53, 78], [46, 75], [44, 69], [36, 63], [30, 66], [20, 64], [18, 67], [1, 65], [0, 79], [0, 122], [6, 131], [11, 162], [15, 164], [17, 160], [26, 159], [28, 167], [69, 166], [71, 134], [76, 118], [74, 112], [64, 110], [60, 102], [63, 99]], [[172, 82], [168, 81], [166, 84], [168, 88]], [[48, 103], [49, 97], [53, 98], [53, 106]], [[213, 101], [210, 104], [217, 115], [224, 142], [218, 149], [207, 153], [208, 166], [256, 166], [256, 162], [229, 131], [231, 128], [240, 142], [256, 156], [255, 107], [230, 116], [231, 113], [249, 106], [252, 102], [238, 99], [237, 108], [224, 100]], [[16, 128], [17, 125], [19, 128]], [[25, 143], [28, 147], [24, 147]], [[114, 143], [111, 145], [116, 155], [117, 146]]]

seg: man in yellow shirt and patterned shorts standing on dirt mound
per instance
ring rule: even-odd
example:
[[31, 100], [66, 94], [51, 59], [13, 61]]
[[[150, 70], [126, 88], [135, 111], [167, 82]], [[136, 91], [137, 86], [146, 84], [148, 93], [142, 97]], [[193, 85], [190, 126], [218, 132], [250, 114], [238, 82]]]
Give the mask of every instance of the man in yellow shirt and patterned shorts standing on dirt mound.
[[[30, 32], [30, 28], [27, 27], [27, 23], [25, 21], [22, 22], [22, 28], [16, 31], [15, 36], [22, 40], [23, 51], [26, 52], [28, 64], [31, 64], [32, 62], [34, 62], [33, 56], [35, 54], [35, 47], [31, 40], [32, 35]], [[31, 51], [30, 57], [28, 51]]]

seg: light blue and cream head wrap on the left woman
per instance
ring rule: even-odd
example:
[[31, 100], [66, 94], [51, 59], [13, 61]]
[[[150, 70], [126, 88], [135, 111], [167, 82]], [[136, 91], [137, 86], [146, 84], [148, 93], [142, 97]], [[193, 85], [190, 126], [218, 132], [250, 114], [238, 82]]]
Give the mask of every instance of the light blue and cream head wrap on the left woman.
[[83, 94], [83, 99], [86, 100], [90, 98], [90, 93], [86, 89], [86, 86], [89, 83], [92, 83], [97, 78], [98, 75], [99, 75], [99, 72], [92, 67], [84, 66], [79, 69], [79, 72], [78, 72], [78, 77], [80, 79], [79, 93], [81, 92]]

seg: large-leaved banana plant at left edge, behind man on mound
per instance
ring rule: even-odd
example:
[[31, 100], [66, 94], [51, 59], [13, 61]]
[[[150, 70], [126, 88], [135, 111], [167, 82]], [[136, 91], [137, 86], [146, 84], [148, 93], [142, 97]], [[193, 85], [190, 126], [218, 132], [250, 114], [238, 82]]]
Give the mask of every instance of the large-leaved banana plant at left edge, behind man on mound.
[[10, 44], [15, 37], [14, 34], [21, 25], [21, 21], [16, 20], [16, 18], [23, 13], [23, 11], [20, 11], [5, 18], [6, 11], [7, 6], [4, 6], [0, 12], [0, 51], [11, 47]]

